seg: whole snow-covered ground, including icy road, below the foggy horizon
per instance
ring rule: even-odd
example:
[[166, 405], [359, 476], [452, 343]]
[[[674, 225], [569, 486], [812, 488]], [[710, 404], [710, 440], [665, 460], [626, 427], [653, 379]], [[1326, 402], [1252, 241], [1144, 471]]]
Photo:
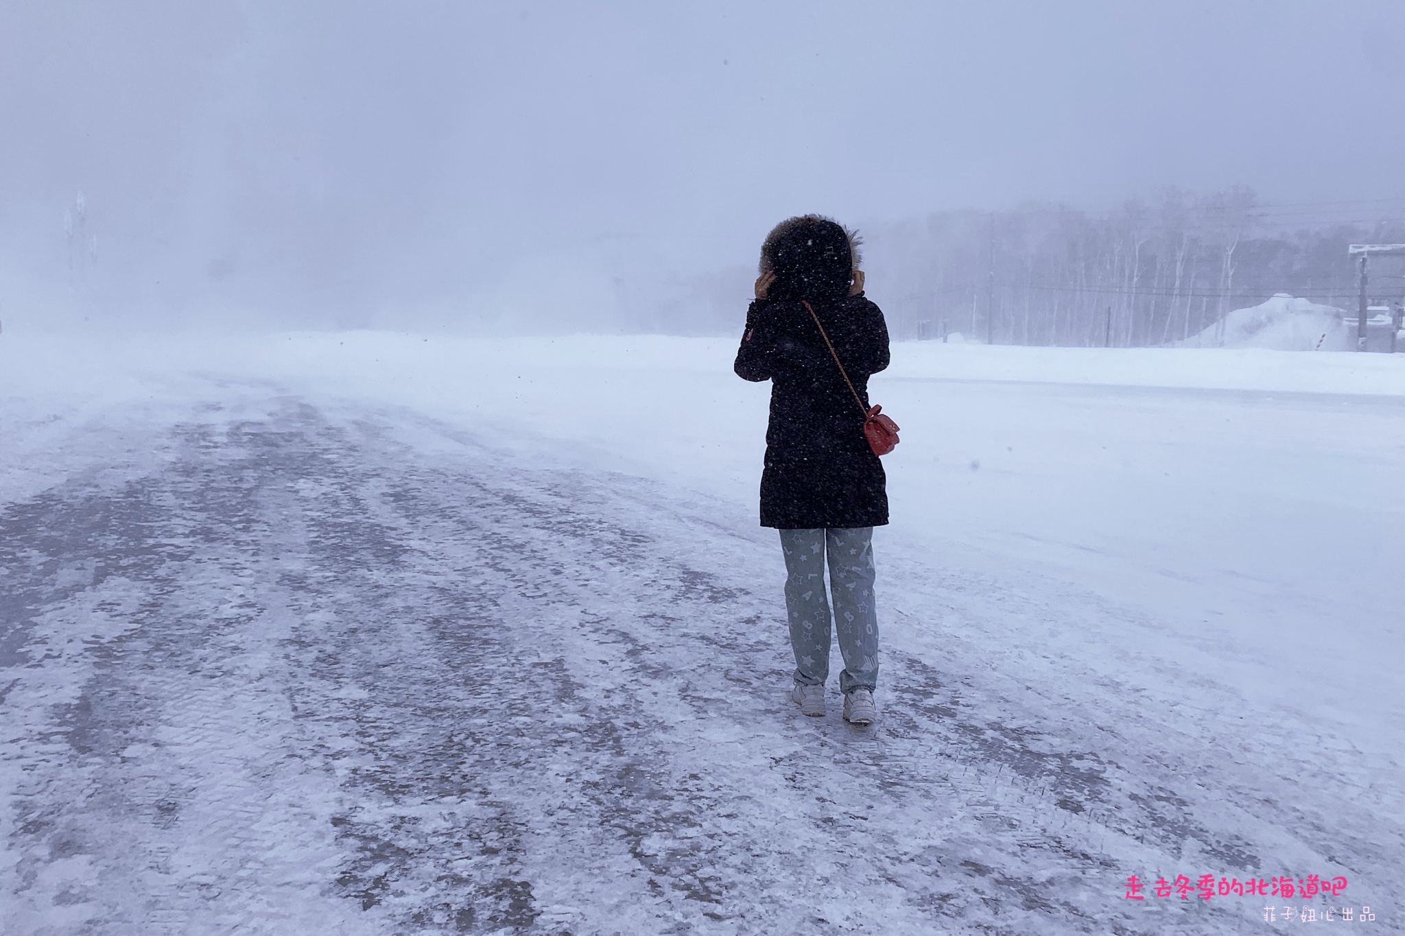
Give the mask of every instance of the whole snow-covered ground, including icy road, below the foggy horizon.
[[1405, 355], [895, 345], [856, 728], [733, 352], [0, 335], [0, 930], [1401, 932]]

